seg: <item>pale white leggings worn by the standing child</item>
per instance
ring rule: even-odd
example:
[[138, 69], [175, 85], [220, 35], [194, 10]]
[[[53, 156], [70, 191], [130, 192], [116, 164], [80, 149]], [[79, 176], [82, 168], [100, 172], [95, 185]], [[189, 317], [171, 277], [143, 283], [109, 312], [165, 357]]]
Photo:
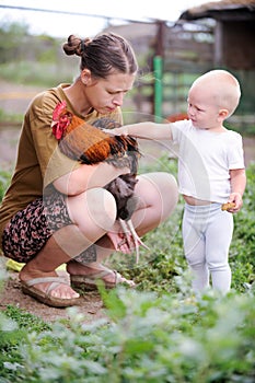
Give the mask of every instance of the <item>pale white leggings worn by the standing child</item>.
[[185, 256], [194, 272], [193, 287], [200, 291], [212, 287], [225, 293], [231, 286], [229, 247], [233, 235], [233, 214], [220, 204], [185, 205], [183, 241]]

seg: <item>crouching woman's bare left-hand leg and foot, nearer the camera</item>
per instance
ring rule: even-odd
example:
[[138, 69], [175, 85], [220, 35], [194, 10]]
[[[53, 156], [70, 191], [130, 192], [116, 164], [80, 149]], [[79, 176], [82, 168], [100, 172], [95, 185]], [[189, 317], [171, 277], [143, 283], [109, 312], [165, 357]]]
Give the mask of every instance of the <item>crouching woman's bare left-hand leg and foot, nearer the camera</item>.
[[[71, 202], [68, 201], [74, 224], [58, 230], [49, 237], [37, 256], [22, 268], [20, 272], [22, 281], [57, 276], [55, 269], [58, 266], [79, 255], [113, 227], [116, 218], [116, 205], [114, 197], [108, 192], [100, 188], [91, 189], [77, 199], [71, 197]], [[83, 233], [82, 230], [85, 229], [86, 233]], [[46, 282], [37, 283], [36, 289], [45, 292], [48, 285]], [[63, 299], [79, 297], [66, 285], [59, 285], [50, 294]]]

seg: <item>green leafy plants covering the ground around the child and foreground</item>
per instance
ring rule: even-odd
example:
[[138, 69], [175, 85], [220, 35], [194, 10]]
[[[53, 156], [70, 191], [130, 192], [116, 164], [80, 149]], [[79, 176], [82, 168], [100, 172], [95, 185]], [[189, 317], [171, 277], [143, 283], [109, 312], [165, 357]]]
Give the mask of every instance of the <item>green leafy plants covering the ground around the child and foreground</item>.
[[[163, 156], [148, 170], [176, 174]], [[179, 231], [183, 202], [144, 241], [150, 256], [112, 264], [136, 279], [135, 291], [101, 289], [108, 320], [44, 323], [15, 306], [0, 315], [0, 382], [25, 383], [252, 383], [255, 379], [255, 164], [247, 169], [243, 209], [230, 252], [232, 291], [195, 295]], [[3, 194], [9, 176], [0, 178]], [[142, 252], [142, 251], [141, 251]], [[144, 259], [146, 253], [141, 255]], [[0, 276], [2, 279], [3, 276]]]

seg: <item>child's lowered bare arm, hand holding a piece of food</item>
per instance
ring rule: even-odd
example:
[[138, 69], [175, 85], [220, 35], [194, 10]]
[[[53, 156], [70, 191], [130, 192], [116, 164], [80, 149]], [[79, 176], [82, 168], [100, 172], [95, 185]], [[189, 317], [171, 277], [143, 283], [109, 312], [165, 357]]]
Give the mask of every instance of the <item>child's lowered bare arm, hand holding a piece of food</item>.
[[246, 186], [246, 174], [244, 169], [230, 171], [231, 194], [228, 202], [233, 202], [234, 207], [228, 209], [230, 212], [237, 212], [243, 205], [243, 194]]

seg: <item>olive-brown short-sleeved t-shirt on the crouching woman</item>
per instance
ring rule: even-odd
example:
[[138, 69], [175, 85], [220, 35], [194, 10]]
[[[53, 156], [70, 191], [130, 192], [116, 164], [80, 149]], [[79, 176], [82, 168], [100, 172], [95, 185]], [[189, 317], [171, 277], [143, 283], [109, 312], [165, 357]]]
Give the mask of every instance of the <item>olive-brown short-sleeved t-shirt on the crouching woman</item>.
[[[39, 93], [27, 108], [19, 140], [15, 170], [0, 206], [0, 247], [2, 232], [9, 220], [30, 202], [42, 197], [47, 185], [80, 166], [58, 149], [58, 141], [51, 129], [56, 105], [66, 100], [67, 108], [88, 123], [103, 117], [96, 111], [85, 117], [79, 115], [63, 92], [66, 86], [69, 84], [60, 84]], [[119, 107], [107, 117], [123, 124]]]

